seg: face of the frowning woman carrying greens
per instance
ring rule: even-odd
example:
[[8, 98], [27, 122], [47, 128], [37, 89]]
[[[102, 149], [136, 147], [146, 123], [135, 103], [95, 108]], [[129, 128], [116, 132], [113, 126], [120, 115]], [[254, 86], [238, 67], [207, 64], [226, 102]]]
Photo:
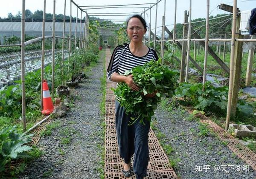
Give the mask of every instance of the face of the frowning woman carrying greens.
[[142, 42], [143, 35], [147, 29], [144, 28], [143, 24], [137, 17], [133, 17], [129, 20], [127, 25], [127, 34], [131, 41]]

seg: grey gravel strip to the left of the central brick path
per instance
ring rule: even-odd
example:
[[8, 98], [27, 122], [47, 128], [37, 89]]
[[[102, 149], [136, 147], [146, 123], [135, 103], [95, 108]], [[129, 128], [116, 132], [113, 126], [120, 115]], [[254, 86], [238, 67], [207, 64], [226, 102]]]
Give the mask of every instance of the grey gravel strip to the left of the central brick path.
[[[38, 147], [44, 154], [31, 162], [21, 179], [61, 178], [61, 179], [99, 179], [102, 138], [102, 116], [100, 102], [102, 91], [100, 78], [103, 76], [104, 53], [99, 63], [91, 68], [89, 77], [74, 90], [76, 100], [67, 114], [55, 119], [60, 127], [51, 136], [41, 137]], [[64, 139], [70, 139], [63, 144]]]

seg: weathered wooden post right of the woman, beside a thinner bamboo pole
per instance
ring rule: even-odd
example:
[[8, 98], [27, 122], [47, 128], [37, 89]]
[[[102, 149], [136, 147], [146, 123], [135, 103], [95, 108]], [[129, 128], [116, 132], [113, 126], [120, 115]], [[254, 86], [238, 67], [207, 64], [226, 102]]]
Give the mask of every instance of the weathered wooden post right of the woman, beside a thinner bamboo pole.
[[[188, 34], [188, 31], [186, 30], [187, 28], [185, 27], [187, 26], [186, 24], [187, 22], [188, 22], [187, 11], [184, 11], [183, 39], [185, 39]], [[185, 80], [186, 47], [187, 47], [187, 42], [183, 41], [182, 42], [182, 60], [180, 64], [180, 83], [184, 82]]]

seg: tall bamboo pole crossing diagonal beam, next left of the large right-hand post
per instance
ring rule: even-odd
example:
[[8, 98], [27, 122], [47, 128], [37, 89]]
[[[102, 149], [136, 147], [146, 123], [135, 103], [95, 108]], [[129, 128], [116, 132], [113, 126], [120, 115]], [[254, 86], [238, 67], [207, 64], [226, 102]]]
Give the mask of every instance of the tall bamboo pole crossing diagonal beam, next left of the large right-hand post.
[[206, 30], [205, 30], [205, 47], [204, 47], [204, 74], [203, 74], [203, 91], [205, 90], [205, 81], [207, 73], [207, 55], [208, 55], [208, 38], [209, 38], [209, 0], [207, 0], [207, 16], [206, 16]]

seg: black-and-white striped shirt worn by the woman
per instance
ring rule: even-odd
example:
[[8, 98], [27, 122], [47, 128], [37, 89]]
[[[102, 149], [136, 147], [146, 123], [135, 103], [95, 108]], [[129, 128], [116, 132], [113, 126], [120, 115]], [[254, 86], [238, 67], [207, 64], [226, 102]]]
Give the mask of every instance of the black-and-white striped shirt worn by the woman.
[[111, 70], [108, 71], [108, 80], [111, 80], [111, 75], [116, 72], [117, 74], [124, 75], [126, 70], [131, 70], [132, 68], [144, 63], [151, 61], [152, 59], [158, 60], [157, 53], [148, 48], [148, 53], [143, 57], [138, 57], [131, 53], [129, 45], [125, 45], [124, 48], [118, 48], [113, 58], [113, 65]]

